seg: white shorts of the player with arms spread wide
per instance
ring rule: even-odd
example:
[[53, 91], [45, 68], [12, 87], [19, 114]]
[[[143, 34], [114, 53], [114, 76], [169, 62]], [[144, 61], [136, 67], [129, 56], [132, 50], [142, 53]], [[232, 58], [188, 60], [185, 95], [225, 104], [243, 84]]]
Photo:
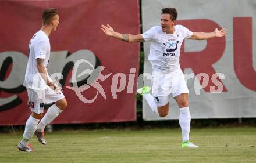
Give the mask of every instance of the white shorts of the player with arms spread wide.
[[152, 95], [157, 106], [165, 106], [169, 102], [169, 96], [173, 97], [182, 93], [189, 93], [184, 74], [181, 69], [176, 73], [163, 74], [153, 71]]

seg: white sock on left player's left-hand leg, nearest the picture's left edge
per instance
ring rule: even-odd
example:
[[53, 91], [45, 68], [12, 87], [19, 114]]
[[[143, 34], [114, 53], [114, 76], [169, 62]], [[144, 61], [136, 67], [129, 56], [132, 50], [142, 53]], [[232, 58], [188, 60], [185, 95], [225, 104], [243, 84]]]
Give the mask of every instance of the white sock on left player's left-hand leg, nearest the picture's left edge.
[[29, 119], [27, 119], [25, 131], [22, 136], [22, 140], [20, 143], [23, 144], [23, 146], [27, 146], [29, 144], [29, 140], [32, 138], [32, 136], [35, 133], [35, 130], [37, 129], [37, 124], [39, 122], [39, 119], [35, 119], [30, 115]]

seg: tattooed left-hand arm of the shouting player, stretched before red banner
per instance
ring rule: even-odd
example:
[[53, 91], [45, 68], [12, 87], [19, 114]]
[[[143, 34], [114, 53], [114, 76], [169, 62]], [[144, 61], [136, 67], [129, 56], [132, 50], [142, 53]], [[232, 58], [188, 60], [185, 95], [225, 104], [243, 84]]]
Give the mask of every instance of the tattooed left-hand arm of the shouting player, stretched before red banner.
[[116, 39], [120, 39], [122, 41], [126, 42], [143, 42], [144, 39], [141, 36], [141, 34], [138, 35], [132, 35], [132, 34], [120, 34], [118, 32], [115, 32], [109, 24], [106, 26], [101, 25], [101, 30], [108, 36], [114, 37]]

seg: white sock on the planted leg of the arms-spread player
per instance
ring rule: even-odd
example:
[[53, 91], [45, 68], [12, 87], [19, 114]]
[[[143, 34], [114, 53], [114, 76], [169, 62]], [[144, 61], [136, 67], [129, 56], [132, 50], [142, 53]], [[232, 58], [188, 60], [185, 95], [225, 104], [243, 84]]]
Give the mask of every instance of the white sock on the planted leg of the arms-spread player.
[[190, 113], [189, 107], [180, 108], [180, 127], [182, 128], [182, 140], [187, 141], [189, 140], [189, 132], [190, 132]]

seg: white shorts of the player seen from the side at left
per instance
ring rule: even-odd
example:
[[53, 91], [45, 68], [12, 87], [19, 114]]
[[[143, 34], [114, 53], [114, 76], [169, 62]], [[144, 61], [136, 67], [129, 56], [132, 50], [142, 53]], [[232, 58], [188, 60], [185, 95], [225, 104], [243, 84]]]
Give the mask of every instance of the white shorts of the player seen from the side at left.
[[27, 95], [29, 96], [30, 110], [37, 114], [44, 113], [45, 103], [53, 103], [65, 98], [62, 92], [56, 93], [49, 86], [45, 90], [27, 88]]

